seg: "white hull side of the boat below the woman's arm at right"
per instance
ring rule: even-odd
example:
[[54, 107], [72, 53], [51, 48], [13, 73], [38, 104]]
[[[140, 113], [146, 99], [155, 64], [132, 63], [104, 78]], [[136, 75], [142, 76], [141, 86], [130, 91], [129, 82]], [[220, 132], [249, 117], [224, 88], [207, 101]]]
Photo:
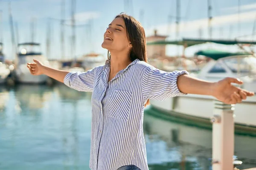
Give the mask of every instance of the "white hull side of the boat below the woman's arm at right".
[[[150, 100], [151, 106], [158, 110], [175, 112], [196, 118], [210, 119], [213, 116], [215, 99], [211, 96], [186, 95], [164, 101]], [[256, 127], [256, 96], [235, 105], [235, 123]]]

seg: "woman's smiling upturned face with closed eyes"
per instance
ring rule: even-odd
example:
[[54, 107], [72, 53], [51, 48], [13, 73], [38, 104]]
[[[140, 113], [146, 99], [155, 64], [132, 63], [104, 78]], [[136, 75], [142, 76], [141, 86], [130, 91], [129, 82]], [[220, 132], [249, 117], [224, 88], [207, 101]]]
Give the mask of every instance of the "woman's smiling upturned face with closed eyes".
[[124, 51], [131, 48], [126, 33], [125, 22], [121, 17], [115, 18], [109, 25], [104, 34], [102, 48], [108, 51]]

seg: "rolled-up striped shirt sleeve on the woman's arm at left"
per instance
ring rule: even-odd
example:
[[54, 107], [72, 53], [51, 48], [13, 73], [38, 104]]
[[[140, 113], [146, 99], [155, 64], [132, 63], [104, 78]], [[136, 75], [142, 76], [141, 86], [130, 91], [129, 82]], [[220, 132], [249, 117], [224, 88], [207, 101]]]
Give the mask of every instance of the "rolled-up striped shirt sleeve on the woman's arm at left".
[[64, 77], [64, 84], [77, 91], [93, 91], [95, 69], [86, 72], [71, 71]]

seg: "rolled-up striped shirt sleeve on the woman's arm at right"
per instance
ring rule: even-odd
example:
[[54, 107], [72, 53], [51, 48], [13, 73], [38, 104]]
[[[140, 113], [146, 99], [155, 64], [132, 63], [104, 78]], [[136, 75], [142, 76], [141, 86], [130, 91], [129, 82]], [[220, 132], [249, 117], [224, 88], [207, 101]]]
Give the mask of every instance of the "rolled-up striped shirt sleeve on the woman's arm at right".
[[187, 71], [166, 72], [148, 67], [143, 74], [142, 91], [144, 99], [163, 101], [170, 97], [186, 95], [178, 89], [177, 78], [189, 73]]

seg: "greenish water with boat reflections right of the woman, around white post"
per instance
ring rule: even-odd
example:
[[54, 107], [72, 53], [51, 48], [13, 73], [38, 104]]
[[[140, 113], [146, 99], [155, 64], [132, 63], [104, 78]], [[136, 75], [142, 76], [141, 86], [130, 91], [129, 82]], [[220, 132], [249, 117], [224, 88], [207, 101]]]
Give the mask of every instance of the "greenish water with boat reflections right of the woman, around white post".
[[[148, 166], [151, 170], [211, 169], [212, 131], [183, 125], [168, 117], [159, 118], [159, 114], [149, 109], [144, 115]], [[243, 161], [239, 169], [256, 167], [255, 143], [256, 137], [235, 136], [235, 155]]]

